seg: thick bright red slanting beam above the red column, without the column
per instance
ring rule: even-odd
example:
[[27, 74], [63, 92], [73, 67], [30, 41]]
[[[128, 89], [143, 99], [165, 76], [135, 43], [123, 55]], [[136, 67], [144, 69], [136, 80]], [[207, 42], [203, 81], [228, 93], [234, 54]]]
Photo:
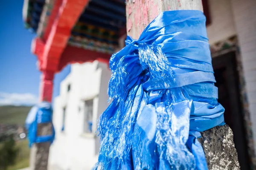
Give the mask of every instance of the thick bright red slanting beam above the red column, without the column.
[[42, 70], [57, 71], [61, 54], [67, 45], [71, 30], [89, 0], [63, 0], [58, 10], [42, 54]]

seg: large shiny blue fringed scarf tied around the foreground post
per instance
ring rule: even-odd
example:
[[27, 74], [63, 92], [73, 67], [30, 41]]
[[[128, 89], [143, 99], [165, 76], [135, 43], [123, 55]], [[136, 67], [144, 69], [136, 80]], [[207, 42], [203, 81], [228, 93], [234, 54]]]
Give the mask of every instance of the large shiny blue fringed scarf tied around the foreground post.
[[165, 11], [110, 59], [97, 170], [207, 170], [200, 132], [224, 125], [201, 11]]

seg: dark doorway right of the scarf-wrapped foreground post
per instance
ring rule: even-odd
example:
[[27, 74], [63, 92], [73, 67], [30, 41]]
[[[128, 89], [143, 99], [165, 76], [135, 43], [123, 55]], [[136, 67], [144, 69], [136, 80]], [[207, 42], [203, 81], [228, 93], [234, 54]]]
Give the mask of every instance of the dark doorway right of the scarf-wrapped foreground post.
[[218, 102], [225, 108], [224, 119], [233, 130], [235, 147], [241, 170], [249, 170], [249, 156], [245, 137], [236, 53], [230, 52], [212, 59], [218, 87]]

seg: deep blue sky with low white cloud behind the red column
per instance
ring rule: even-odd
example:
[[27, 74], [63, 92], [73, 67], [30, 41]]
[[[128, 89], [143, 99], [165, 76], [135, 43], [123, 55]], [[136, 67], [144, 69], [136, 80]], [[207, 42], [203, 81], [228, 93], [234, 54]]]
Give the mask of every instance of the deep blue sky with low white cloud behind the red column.
[[[38, 101], [41, 72], [30, 52], [35, 33], [24, 27], [23, 0], [0, 0], [0, 105], [32, 105]], [[54, 96], [59, 82], [70, 71], [55, 76]]]

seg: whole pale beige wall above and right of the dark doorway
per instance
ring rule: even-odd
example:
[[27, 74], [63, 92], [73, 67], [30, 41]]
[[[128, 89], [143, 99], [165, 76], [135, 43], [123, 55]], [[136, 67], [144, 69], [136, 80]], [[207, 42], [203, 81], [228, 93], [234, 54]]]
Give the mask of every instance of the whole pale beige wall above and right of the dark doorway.
[[208, 0], [209, 44], [237, 35], [256, 150], [256, 0]]

